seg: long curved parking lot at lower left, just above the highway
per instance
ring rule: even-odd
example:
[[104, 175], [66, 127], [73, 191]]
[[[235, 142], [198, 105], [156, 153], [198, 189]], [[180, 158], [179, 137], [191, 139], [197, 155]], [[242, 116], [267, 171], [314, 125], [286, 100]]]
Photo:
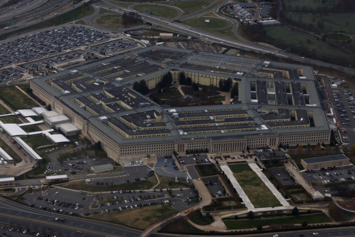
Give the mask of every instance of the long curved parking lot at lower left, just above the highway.
[[[66, 215], [95, 215], [110, 211], [120, 211], [140, 206], [159, 205], [174, 202], [174, 208], [184, 210], [186, 196], [191, 196], [192, 190], [177, 189], [170, 197], [166, 189], [157, 190], [118, 190], [96, 194], [68, 189], [47, 189], [44, 194], [26, 194], [23, 201], [32, 208], [39, 208]], [[194, 194], [193, 194], [194, 195]]]

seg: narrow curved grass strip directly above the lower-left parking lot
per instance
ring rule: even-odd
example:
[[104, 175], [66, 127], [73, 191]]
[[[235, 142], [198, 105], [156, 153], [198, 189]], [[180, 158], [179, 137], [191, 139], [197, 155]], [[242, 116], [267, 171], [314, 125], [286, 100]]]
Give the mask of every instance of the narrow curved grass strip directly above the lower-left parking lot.
[[[131, 181], [130, 177], [124, 178], [124, 180], [129, 179]], [[69, 188], [73, 190], [83, 190], [83, 191], [90, 191], [90, 192], [108, 192], [108, 191], [114, 191], [114, 190], [140, 190], [140, 189], [150, 189], [152, 188], [155, 184], [158, 183], [157, 178], [155, 175], [148, 179], [142, 179], [141, 181], [138, 182], [133, 182], [133, 183], [122, 183], [119, 185], [96, 185], [95, 180], [91, 181], [93, 184], [87, 184], [84, 180], [80, 181], [74, 181], [71, 183], [64, 183], [64, 184], [59, 184], [59, 187], [63, 188]], [[105, 181], [103, 181], [105, 183]], [[89, 189], [90, 188], [90, 189]]]

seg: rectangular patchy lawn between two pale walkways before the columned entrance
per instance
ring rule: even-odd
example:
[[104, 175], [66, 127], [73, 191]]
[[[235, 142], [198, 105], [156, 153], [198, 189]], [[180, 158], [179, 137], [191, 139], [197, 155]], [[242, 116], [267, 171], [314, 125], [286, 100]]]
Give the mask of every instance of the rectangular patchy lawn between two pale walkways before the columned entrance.
[[249, 165], [230, 165], [229, 168], [255, 208], [281, 205]]

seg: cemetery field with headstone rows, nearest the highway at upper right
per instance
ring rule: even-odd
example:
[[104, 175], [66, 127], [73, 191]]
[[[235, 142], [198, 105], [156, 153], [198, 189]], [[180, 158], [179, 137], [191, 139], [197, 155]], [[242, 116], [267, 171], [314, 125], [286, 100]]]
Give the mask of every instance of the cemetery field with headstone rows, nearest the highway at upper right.
[[[331, 47], [331, 45], [329, 45], [327, 42], [317, 40], [314, 36], [298, 31], [296, 29], [292, 31], [290, 27], [268, 26], [268, 27], [264, 27], [263, 29], [268, 36], [271, 36], [272, 38], [275, 39], [275, 42], [281, 42], [284, 45], [285, 44], [287, 45], [289, 43], [302, 45], [303, 47], [308, 48], [310, 52], [314, 52], [316, 58], [317, 55], [349, 56], [348, 54]], [[307, 43], [307, 39], [310, 39], [311, 42]], [[291, 48], [291, 52], [292, 52], [292, 48]]]

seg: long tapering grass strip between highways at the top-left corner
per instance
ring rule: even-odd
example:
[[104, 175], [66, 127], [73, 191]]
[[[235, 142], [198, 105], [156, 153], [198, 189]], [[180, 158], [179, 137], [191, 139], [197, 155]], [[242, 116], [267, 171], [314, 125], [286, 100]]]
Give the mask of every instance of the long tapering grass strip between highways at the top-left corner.
[[[48, 20], [43, 20], [39, 23], [33, 24], [31, 26], [26, 26], [26, 27], [18, 27], [14, 31], [9, 31], [0, 36], [0, 39], [6, 39], [7, 37], [11, 36], [12, 34], [16, 34], [20, 31], [29, 31], [29, 30], [34, 30], [34, 29], [42, 29], [46, 27], [52, 27], [52, 26], [58, 26], [61, 24], [69, 23], [72, 21], [79, 20], [80, 18], [89, 16], [94, 13], [94, 8], [92, 6], [85, 6], [81, 5], [73, 10], [70, 10], [64, 14], [61, 14], [59, 16], [52, 17]], [[7, 87], [5, 87], [7, 88]]]

